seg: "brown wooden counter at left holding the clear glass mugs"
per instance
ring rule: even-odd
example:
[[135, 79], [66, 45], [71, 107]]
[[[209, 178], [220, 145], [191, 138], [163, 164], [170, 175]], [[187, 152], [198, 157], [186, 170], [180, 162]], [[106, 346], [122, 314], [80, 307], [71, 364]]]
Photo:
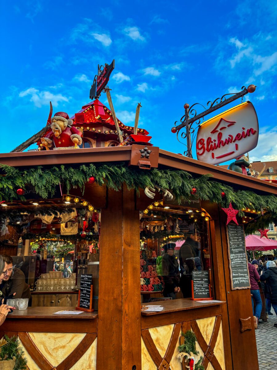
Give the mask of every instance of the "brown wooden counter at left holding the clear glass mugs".
[[54, 312], [73, 307], [28, 307], [8, 314], [1, 332], [96, 333], [98, 312], [58, 315]]

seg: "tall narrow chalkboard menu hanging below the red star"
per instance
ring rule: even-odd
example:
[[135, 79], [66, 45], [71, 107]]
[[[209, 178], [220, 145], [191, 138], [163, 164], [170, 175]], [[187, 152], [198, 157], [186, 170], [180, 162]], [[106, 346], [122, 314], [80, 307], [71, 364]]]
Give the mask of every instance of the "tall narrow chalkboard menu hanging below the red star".
[[243, 225], [227, 225], [231, 289], [250, 288]]

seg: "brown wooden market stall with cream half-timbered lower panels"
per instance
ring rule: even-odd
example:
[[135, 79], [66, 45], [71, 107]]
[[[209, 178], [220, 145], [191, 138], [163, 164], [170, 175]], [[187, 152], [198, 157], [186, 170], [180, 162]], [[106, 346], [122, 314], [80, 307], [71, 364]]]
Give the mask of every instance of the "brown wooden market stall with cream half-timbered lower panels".
[[[231, 191], [245, 190], [247, 196], [251, 196], [252, 193], [249, 192], [261, 197], [276, 196], [277, 186], [182, 157], [158, 147], [151, 147], [151, 154], [147, 159], [151, 169], [142, 169], [139, 166], [141, 150], [144, 148], [145, 144], [134, 144], [121, 147], [81, 148], [76, 151], [42, 150], [0, 155], [1, 164], [14, 166], [18, 171], [28, 172], [34, 166], [41, 166], [42, 171], [51, 171], [54, 166], [59, 167], [61, 164], [65, 169], [75, 168], [76, 171], [77, 169], [79, 171], [81, 165], [87, 166], [86, 168], [89, 168], [90, 164], [95, 166], [93, 171], [96, 182], [85, 183], [83, 193], [80, 187], [70, 186], [67, 190], [65, 186], [63, 196], [53, 200], [51, 205], [51, 208], [66, 208], [72, 206], [73, 197], [78, 197], [87, 202], [86, 206], [92, 205], [98, 210], [100, 253], [95, 255], [99, 256], [99, 262], [97, 258], [94, 261], [89, 259], [94, 263], [92, 266], [99, 266], [97, 296], [93, 293], [95, 311], [58, 316], [55, 314], [57, 308], [44, 303], [47, 299], [44, 297], [40, 307], [37, 299], [36, 307], [28, 307], [27, 310], [10, 314], [1, 326], [1, 332], [19, 337], [30, 370], [185, 369], [184, 361], [181, 363], [177, 355], [178, 346], [184, 340], [181, 332], [186, 333], [189, 330], [195, 333], [196, 349], [199, 356], [203, 356], [206, 370], [259, 369], [247, 273], [242, 283], [239, 283], [234, 275], [230, 275], [232, 268], [233, 272], [235, 271], [231, 263], [234, 229], [228, 229], [226, 226], [227, 216], [220, 209], [220, 200], [217, 203], [214, 199], [213, 202], [207, 199], [199, 201], [198, 195], [201, 198], [201, 186], [208, 188], [209, 184], [217, 184], [212, 192], [218, 194], [222, 188], [222, 192], [226, 192], [226, 200], [222, 197], [222, 204], [228, 208], [227, 199]], [[106, 174], [112, 176], [118, 174], [118, 190], [115, 189], [116, 186], [112, 186], [109, 178], [106, 178], [107, 181], [103, 181], [103, 184], [99, 182], [101, 178], [99, 174], [103, 172], [104, 167]], [[174, 198], [168, 199], [163, 191], [159, 192], [159, 189], [155, 190], [153, 199], [150, 199], [144, 192], [144, 186], [138, 186], [138, 184], [146, 187], [150, 185], [147, 182], [140, 182], [142, 179], [140, 176], [175, 174], [178, 177], [181, 176], [181, 172], [177, 172], [180, 170], [184, 174], [189, 174], [187, 180], [182, 178], [182, 181], [187, 181], [190, 189], [195, 181], [195, 188], [198, 191], [197, 194], [190, 195], [190, 191], [184, 194], [187, 201], [183, 203], [174, 201]], [[2, 174], [6, 174], [6, 178], [11, 180], [11, 175], [7, 175], [5, 171], [5, 168], [2, 168]], [[125, 177], [124, 171], [127, 171], [128, 176], [134, 176], [132, 181], [127, 175]], [[207, 174], [213, 178], [203, 177]], [[86, 175], [89, 178], [93, 173], [87, 172]], [[136, 176], [139, 178], [138, 181]], [[61, 181], [62, 179], [64, 177], [61, 174]], [[74, 185], [70, 181], [69, 183]], [[159, 183], [157, 185], [162, 187]], [[174, 197], [178, 193], [177, 187], [166, 190], [172, 192]], [[65, 195], [70, 198], [69, 204], [64, 203]], [[47, 208], [50, 199], [49, 196], [41, 197], [38, 201], [40, 207]], [[188, 203], [189, 199], [191, 203]], [[30, 203], [33, 199], [28, 199], [28, 204], [20, 199], [4, 200], [7, 206], [5, 209], [1, 207], [3, 212], [7, 212], [6, 209], [13, 206], [24, 211], [29, 210], [30, 213], [35, 208], [35, 205]], [[249, 198], [246, 199], [245, 206], [249, 206]], [[239, 229], [236, 229], [236, 236], [241, 235], [239, 234], [241, 231], [243, 233], [244, 223], [251, 221], [253, 213], [257, 212], [254, 203], [252, 207], [249, 210], [246, 208], [244, 218], [237, 217]], [[191, 213], [193, 219], [190, 217]], [[177, 233], [178, 240], [186, 240], [187, 231], [178, 225], [181, 225], [181, 221], [182, 225], [185, 222], [186, 225], [190, 225], [189, 219], [194, 225], [198, 225], [197, 230], [201, 236], [201, 245], [203, 244], [201, 248], [199, 247], [199, 256], [202, 259], [202, 270], [209, 272], [213, 300], [205, 302], [191, 300], [189, 295], [191, 292], [188, 292], [186, 298], [178, 292], [175, 300], [157, 301], [163, 298], [158, 288], [155, 292], [147, 288], [147, 292], [141, 293], [140, 274], [141, 266], [144, 266], [144, 262], [141, 262], [142, 255], [146, 256], [146, 260], [157, 258], [163, 246], [168, 241], [172, 242], [171, 238]], [[235, 223], [230, 225], [236, 226]], [[78, 233], [79, 231], [80, 225]], [[82, 231], [81, 228], [81, 233]], [[76, 248], [77, 245], [76, 242]], [[7, 245], [2, 248], [6, 248], [7, 252]], [[77, 249], [75, 254], [77, 258]], [[244, 256], [245, 260], [243, 257], [242, 262], [245, 262], [247, 267], [245, 252]], [[153, 263], [146, 264], [151, 265], [154, 266]], [[149, 271], [155, 270], [154, 267], [151, 269]], [[97, 273], [94, 275], [93, 272], [93, 277], [96, 277]], [[97, 284], [96, 281], [94, 284]], [[149, 283], [148, 286], [150, 285]], [[158, 283], [155, 285], [158, 286]], [[78, 287], [78, 284], [76, 286]], [[69, 295], [69, 292], [65, 294]], [[76, 293], [72, 291], [70, 294]], [[54, 295], [55, 302], [61, 300], [57, 297], [61, 293], [53, 291], [50, 303], [54, 301]], [[162, 305], [164, 309], [160, 312], [141, 311], [141, 303], [146, 302], [144, 297], [146, 295], [148, 299], [155, 298], [156, 302], [151, 302], [151, 305]], [[34, 296], [35, 294], [33, 299]], [[63, 302], [71, 303], [57, 305], [59, 310], [65, 309], [65, 306], [67, 309], [71, 306], [71, 310], [74, 310], [76, 300], [67, 298]], [[54, 305], [53, 302], [52, 306], [56, 306], [56, 303]]]

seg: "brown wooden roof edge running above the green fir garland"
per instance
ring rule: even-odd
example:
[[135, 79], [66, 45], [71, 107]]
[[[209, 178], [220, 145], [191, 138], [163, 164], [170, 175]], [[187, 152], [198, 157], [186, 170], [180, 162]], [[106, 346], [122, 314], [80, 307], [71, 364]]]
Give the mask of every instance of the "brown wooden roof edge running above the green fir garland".
[[[85, 148], [65, 149], [55, 151], [35, 152], [11, 152], [0, 154], [0, 163], [10, 166], [27, 167], [38, 165], [61, 165], [61, 164], [85, 164], [99, 162], [129, 162], [132, 154], [132, 147], [107, 147], [107, 148]], [[257, 178], [239, 174], [234, 171], [215, 166], [196, 159], [184, 157], [162, 149], [159, 149], [159, 168], [161, 166], [181, 169], [192, 175], [211, 174], [216, 180], [225, 182], [232, 186], [239, 186], [244, 189], [266, 192], [277, 195], [277, 185]], [[147, 170], [145, 170], [147, 171]]]

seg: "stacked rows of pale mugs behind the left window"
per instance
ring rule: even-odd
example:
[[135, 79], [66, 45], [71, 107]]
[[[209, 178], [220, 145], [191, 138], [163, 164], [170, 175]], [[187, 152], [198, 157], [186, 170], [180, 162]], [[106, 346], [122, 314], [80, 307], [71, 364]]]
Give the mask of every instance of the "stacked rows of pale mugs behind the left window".
[[62, 277], [62, 271], [49, 271], [41, 274], [35, 282], [36, 292], [69, 292], [75, 288], [76, 273], [70, 277]]

